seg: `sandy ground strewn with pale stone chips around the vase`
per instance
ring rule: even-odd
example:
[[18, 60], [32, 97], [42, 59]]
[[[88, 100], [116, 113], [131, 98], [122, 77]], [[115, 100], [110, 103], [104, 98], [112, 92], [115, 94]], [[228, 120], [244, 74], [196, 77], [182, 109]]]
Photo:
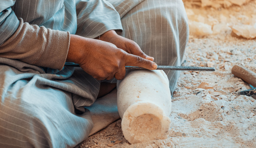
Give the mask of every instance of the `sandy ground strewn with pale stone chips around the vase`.
[[[255, 1], [242, 7], [217, 10], [186, 2], [185, 7], [188, 13], [194, 13], [188, 16], [190, 20], [204, 19], [209, 25], [212, 22], [242, 24], [256, 15]], [[198, 18], [199, 14], [203, 18]], [[256, 39], [238, 37], [230, 29], [204, 37], [190, 35], [183, 66], [207, 66], [209, 61], [214, 64], [215, 72], [181, 72], [172, 98], [168, 139], [129, 144], [122, 134], [119, 119], [90, 136], [80, 147], [255, 148], [256, 100], [251, 96], [236, 95], [250, 86], [231, 74], [231, 68], [240, 64], [256, 73]], [[202, 82], [209, 83], [213, 89], [197, 88]]]

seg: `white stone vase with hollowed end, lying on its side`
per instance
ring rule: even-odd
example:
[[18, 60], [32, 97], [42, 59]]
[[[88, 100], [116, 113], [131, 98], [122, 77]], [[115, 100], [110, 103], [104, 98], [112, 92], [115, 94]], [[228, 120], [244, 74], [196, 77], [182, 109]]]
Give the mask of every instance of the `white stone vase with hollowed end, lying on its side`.
[[162, 70], [127, 70], [117, 82], [117, 109], [131, 144], [166, 139], [171, 107], [169, 80]]

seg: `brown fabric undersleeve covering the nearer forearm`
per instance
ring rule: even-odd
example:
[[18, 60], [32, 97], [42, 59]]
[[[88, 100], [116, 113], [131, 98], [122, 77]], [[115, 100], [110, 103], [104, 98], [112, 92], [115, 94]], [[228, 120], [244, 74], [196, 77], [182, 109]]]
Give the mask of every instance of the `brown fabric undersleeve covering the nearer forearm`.
[[61, 70], [69, 47], [69, 32], [23, 23], [0, 46], [0, 57], [18, 59], [28, 64]]

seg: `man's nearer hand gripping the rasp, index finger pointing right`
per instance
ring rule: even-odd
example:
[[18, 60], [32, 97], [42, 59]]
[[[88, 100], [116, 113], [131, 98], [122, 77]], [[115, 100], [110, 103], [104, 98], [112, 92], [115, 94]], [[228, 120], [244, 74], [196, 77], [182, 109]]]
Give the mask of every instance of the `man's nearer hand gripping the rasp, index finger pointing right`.
[[129, 54], [114, 44], [97, 39], [70, 36], [67, 62], [74, 62], [97, 80], [122, 80], [125, 66], [137, 66], [155, 70], [155, 62]]

